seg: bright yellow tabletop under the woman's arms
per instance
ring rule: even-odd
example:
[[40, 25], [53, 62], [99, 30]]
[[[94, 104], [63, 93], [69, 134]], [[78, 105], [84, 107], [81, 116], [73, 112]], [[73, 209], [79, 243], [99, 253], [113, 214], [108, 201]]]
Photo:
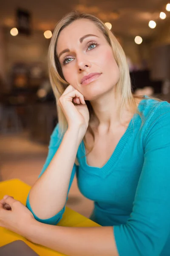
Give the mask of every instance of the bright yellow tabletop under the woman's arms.
[[[21, 201], [21, 203], [26, 205], [26, 198], [30, 188], [31, 186], [17, 179], [0, 182], [0, 199], [2, 199], [4, 195], [10, 195], [13, 196], [14, 199], [19, 200]], [[88, 218], [82, 216], [78, 212], [75, 212], [68, 207], [66, 207], [62, 220], [59, 221], [57, 225], [65, 227], [100, 227], [99, 224], [96, 224], [94, 221], [89, 220]], [[0, 246], [3, 246], [15, 240], [24, 241], [40, 256], [64, 255], [47, 247], [31, 243], [23, 236], [7, 230], [6, 228], [0, 227]]]

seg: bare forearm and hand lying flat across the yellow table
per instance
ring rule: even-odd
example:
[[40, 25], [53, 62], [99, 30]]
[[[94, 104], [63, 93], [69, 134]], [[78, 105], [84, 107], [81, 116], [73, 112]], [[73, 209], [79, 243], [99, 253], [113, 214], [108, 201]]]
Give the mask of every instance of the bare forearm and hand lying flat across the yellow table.
[[[5, 209], [8, 204], [11, 210]], [[20, 201], [0, 201], [0, 227], [70, 256], [118, 256], [113, 227], [59, 227], [38, 222]]]

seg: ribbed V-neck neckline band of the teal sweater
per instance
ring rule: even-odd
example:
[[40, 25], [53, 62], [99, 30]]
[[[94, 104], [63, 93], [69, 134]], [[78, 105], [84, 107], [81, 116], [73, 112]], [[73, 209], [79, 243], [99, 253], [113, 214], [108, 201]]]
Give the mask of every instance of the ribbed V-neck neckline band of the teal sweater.
[[[146, 96], [144, 96], [144, 99], [142, 99], [139, 102], [138, 110], [140, 111], [141, 103], [146, 99]], [[125, 146], [127, 145], [127, 142], [130, 140], [130, 137], [133, 135], [134, 128], [136, 124], [139, 122], [140, 116], [138, 114], [134, 114], [132, 119], [129, 122], [129, 125], [127, 126], [127, 129], [125, 133], [120, 138], [119, 142], [116, 145], [116, 148], [114, 149], [111, 157], [108, 159], [108, 161], [102, 166], [102, 167], [96, 167], [96, 166], [89, 166], [87, 163], [87, 158], [85, 156], [85, 144], [82, 140], [80, 146], [82, 148], [81, 156], [79, 157], [80, 164], [82, 169], [84, 169], [87, 172], [90, 172], [91, 174], [100, 176], [100, 177], [106, 177], [110, 174], [110, 172], [113, 171], [114, 166], [118, 162], [119, 158], [122, 155], [123, 150], [125, 149]]]

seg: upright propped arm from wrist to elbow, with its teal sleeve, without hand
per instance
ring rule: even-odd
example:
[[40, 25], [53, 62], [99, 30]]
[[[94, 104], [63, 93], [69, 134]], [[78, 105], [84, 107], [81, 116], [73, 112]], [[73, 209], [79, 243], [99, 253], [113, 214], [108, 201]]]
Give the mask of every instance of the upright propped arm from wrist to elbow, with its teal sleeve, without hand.
[[[51, 224], [57, 224], [64, 212], [68, 191], [75, 174], [74, 161], [80, 143], [76, 129], [67, 130], [60, 142], [58, 128], [57, 125], [51, 136], [47, 161], [40, 178], [31, 188], [27, 198], [27, 207], [34, 217], [45, 223], [51, 221]], [[51, 217], [53, 219], [49, 221]]]

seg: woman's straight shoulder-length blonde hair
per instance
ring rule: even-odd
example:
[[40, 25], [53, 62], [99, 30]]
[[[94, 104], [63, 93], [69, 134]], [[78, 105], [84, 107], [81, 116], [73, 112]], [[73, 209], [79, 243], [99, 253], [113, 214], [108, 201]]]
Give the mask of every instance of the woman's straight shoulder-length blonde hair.
[[[79, 13], [78, 11], [70, 12], [64, 17], [62, 17], [61, 20], [59, 20], [59, 22], [57, 23], [54, 29], [53, 36], [51, 38], [51, 43], [48, 49], [48, 70], [49, 70], [51, 86], [54, 91], [56, 102], [58, 102], [58, 99], [60, 98], [62, 93], [64, 93], [66, 87], [68, 86], [68, 82], [65, 81], [65, 78], [62, 74], [62, 69], [56, 54], [57, 39], [62, 29], [64, 29], [69, 24], [71, 24], [73, 21], [79, 20], [79, 19], [91, 20], [100, 29], [100, 31], [103, 33], [106, 40], [108, 41], [108, 44], [113, 49], [113, 55], [119, 67], [119, 72], [120, 72], [120, 78], [115, 88], [116, 95], [119, 94], [121, 96], [121, 100], [119, 102], [119, 108], [118, 108], [118, 113], [120, 118], [121, 118], [122, 109], [124, 109], [124, 107], [128, 108], [132, 113], [138, 113], [141, 116], [141, 114], [138, 111], [135, 98], [143, 99], [143, 96], [135, 96], [132, 94], [129, 67], [127, 64], [124, 50], [122, 49], [121, 45], [119, 44], [118, 40], [113, 35], [113, 33], [107, 28], [107, 26], [105, 26], [105, 24], [101, 20], [99, 20], [97, 17], [93, 15]], [[94, 111], [89, 101], [86, 101], [86, 104], [88, 106], [90, 121], [91, 121], [91, 118], [94, 116]], [[59, 120], [59, 130], [61, 132], [61, 136], [63, 136], [63, 134], [68, 128], [68, 123], [64, 113], [62, 112], [62, 109], [58, 105], [57, 105], [57, 113], [58, 113], [58, 120]], [[92, 134], [94, 138], [94, 133], [90, 125], [88, 127], [88, 131]], [[83, 141], [85, 143], [85, 147], [88, 148], [85, 137], [83, 138]], [[90, 153], [90, 151], [88, 152], [88, 154]], [[78, 164], [77, 159], [75, 163]]]

